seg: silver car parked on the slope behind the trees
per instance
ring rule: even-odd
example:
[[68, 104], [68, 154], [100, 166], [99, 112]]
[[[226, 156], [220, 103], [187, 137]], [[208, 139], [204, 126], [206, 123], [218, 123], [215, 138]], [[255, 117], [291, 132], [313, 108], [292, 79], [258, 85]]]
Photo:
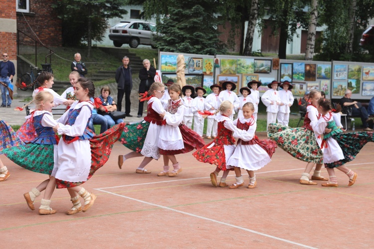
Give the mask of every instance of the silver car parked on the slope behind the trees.
[[145, 21], [121, 21], [110, 28], [109, 39], [115, 47], [127, 43], [132, 48], [142, 45], [151, 45], [152, 37], [156, 35], [156, 24]]

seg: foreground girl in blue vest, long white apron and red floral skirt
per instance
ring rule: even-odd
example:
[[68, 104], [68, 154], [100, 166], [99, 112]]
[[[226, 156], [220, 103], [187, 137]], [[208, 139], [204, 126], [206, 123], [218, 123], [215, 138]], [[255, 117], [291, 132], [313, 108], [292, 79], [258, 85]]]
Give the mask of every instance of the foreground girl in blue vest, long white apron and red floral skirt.
[[[80, 185], [91, 178], [94, 172], [108, 160], [113, 143], [119, 139], [125, 126], [123, 123], [117, 124], [93, 137], [88, 124], [93, 109], [90, 98], [95, 94], [95, 86], [91, 80], [80, 78], [75, 85], [74, 93], [78, 101], [56, 120], [58, 124], [53, 127], [59, 135], [62, 135], [62, 139], [57, 146], [58, 161], [54, 165], [52, 177], [41, 200], [39, 208], [41, 215], [56, 213], [50, 208], [50, 198], [56, 184], [57, 188], [67, 188], [70, 194], [73, 207], [67, 211], [68, 215], [86, 212], [94, 204], [96, 196], [88, 193]], [[79, 196], [84, 199], [83, 208]]]

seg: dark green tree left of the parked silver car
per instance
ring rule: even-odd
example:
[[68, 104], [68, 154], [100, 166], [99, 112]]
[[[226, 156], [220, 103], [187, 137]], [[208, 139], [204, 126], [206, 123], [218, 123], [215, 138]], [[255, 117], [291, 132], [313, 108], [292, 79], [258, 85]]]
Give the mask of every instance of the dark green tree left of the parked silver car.
[[92, 40], [101, 41], [108, 25], [108, 18], [121, 17], [127, 11], [121, 7], [126, 0], [59, 0], [53, 4], [62, 19], [63, 44], [80, 45], [87, 42], [91, 54]]

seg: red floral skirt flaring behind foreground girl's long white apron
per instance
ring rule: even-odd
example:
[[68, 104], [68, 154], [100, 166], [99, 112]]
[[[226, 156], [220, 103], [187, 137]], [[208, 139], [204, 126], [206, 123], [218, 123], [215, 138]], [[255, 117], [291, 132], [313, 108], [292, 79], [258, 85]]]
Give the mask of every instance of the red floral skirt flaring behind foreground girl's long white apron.
[[[105, 132], [95, 135], [90, 139], [91, 168], [87, 180], [93, 176], [96, 170], [101, 168], [108, 161], [109, 155], [112, 152], [113, 144], [120, 139], [125, 125], [125, 123], [116, 124], [107, 129]], [[56, 179], [57, 188], [75, 187], [83, 184], [84, 182], [67, 182]]]

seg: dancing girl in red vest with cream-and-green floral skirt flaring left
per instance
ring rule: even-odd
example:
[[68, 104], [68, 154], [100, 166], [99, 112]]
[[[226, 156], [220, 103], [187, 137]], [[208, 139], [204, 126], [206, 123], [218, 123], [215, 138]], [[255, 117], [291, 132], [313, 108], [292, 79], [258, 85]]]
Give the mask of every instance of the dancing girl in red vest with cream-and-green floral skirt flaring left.
[[[310, 105], [307, 107], [304, 125], [300, 128], [290, 128], [281, 124], [269, 124], [268, 137], [274, 140], [279, 147], [296, 159], [308, 162], [304, 173], [300, 178], [300, 184], [317, 185], [316, 182], [309, 180], [310, 171], [317, 163], [312, 180], [327, 181], [321, 176], [323, 165], [323, 151], [321, 150], [321, 136], [313, 132], [311, 122], [318, 121], [318, 110], [316, 108], [318, 100], [321, 98], [319, 91], [312, 90], [309, 94]], [[328, 133], [327, 129], [325, 133]]]

